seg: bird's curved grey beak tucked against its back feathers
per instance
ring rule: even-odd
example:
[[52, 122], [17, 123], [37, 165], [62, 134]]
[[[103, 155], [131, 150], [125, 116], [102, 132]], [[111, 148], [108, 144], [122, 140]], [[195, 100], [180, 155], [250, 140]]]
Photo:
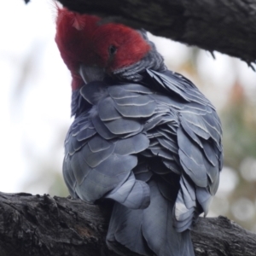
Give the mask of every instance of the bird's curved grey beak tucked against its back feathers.
[[79, 67], [79, 74], [85, 84], [93, 81], [102, 81], [104, 79], [104, 68], [97, 66], [85, 66], [82, 64]]

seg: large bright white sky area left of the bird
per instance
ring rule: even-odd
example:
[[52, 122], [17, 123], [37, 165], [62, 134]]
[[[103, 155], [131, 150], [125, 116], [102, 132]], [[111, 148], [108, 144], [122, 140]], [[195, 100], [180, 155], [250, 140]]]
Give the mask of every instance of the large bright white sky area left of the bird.
[[[71, 79], [55, 46], [53, 9], [42, 0], [27, 5], [21, 0], [0, 2], [0, 190], [4, 192], [20, 191], [22, 182], [33, 175], [28, 172], [31, 158], [51, 154], [56, 128], [70, 123]], [[29, 55], [32, 70], [25, 88], [17, 90]], [[32, 152], [24, 148], [24, 141]], [[62, 150], [55, 154], [60, 166], [62, 155]]]

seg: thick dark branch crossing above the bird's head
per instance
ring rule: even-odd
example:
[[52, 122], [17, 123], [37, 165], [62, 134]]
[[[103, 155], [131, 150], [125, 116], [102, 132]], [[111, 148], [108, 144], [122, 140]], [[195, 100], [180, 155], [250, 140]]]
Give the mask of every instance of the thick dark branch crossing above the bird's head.
[[[253, 0], [58, 0], [80, 13], [115, 16], [128, 26], [209, 51], [256, 60]], [[172, 50], [172, 49], [170, 49]]]

